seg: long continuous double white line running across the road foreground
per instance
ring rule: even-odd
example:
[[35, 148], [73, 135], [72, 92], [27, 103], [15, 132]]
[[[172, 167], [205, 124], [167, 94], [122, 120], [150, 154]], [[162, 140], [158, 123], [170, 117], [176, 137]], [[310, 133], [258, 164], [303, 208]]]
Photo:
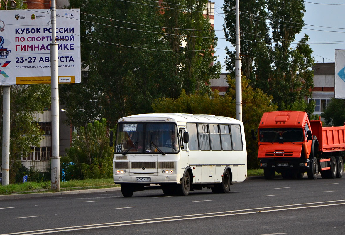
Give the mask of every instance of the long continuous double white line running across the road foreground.
[[[342, 203], [340, 203], [340, 202], [342, 202]], [[306, 205], [321, 204], [321, 203], [323, 203], [324, 205], [306, 206]], [[335, 204], [325, 204], [325, 203], [335, 203]], [[34, 231], [6, 233], [6, 234], [0, 234], [0, 235], [14, 235], [14, 234], [34, 235], [34, 234], [43, 234], [43, 233], [57, 233], [57, 232], [76, 231], [76, 230], [82, 230], [82, 229], [117, 227], [117, 226], [137, 225], [137, 224], [150, 224], [150, 223], [177, 221], [177, 220], [212, 218], [212, 217], [221, 217], [221, 216], [265, 213], [265, 212], [277, 212], [277, 211], [283, 211], [283, 210], [295, 210], [295, 209], [305, 209], [305, 208], [325, 207], [325, 206], [338, 206], [338, 205], [345, 205], [345, 200], [319, 201], [319, 202], [314, 202], [314, 203], [301, 203], [301, 204], [292, 204], [292, 205], [270, 206], [270, 207], [250, 208], [250, 209], [241, 209], [241, 210], [230, 210], [230, 211], [224, 211], [224, 212], [211, 212], [211, 213], [203, 213], [203, 214], [192, 214], [192, 215], [180, 215], [180, 216], [170, 216], [170, 217], [161, 217], [161, 218], [138, 219], [138, 220], [129, 220], [129, 221], [122, 221], [122, 222], [103, 223], [103, 224], [90, 224], [90, 225], [79, 225], [79, 226], [71, 226], [71, 227], [40, 229], [40, 230], [34, 230]], [[300, 207], [296, 207], [296, 206], [300, 206]], [[279, 207], [289, 207], [289, 208], [263, 210], [263, 209], [268, 209], [268, 208], [279, 208]], [[248, 210], [256, 210], [256, 211], [245, 212]], [[234, 212], [242, 212], [242, 213], [234, 213]], [[231, 213], [231, 214], [217, 215], [220, 213]], [[191, 216], [194, 216], [194, 217], [191, 217]], [[188, 218], [184, 218], [184, 217], [188, 217]]]

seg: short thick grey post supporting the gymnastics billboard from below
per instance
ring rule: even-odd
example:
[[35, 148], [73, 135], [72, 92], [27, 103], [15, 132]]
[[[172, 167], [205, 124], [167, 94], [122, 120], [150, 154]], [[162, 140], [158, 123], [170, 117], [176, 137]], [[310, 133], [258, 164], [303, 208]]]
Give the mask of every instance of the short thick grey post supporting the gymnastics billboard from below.
[[10, 183], [10, 91], [2, 86], [2, 185]]

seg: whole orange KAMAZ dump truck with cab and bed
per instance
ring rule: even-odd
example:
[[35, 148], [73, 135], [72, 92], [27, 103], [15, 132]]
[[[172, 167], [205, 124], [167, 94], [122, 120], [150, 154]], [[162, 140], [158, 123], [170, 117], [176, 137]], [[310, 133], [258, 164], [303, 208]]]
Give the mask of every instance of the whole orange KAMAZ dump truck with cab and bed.
[[309, 121], [305, 112], [277, 111], [263, 114], [258, 129], [258, 159], [266, 179], [275, 172], [283, 178], [342, 178], [345, 125], [323, 127]]

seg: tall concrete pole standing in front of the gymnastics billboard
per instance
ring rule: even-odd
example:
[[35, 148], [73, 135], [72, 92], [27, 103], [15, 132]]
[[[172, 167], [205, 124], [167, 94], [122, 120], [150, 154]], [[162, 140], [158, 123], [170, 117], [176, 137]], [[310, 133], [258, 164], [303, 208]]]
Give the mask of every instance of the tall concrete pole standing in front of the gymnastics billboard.
[[59, 75], [58, 44], [56, 43], [56, 0], [51, 0], [51, 189], [60, 191], [60, 154], [59, 154]]

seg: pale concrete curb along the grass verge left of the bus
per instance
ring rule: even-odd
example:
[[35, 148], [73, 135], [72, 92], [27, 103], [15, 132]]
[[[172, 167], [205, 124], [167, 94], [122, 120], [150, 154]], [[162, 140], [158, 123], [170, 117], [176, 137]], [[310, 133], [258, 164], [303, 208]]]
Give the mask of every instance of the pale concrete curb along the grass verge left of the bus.
[[33, 194], [11, 194], [11, 195], [0, 195], [0, 200], [9, 199], [23, 199], [31, 197], [49, 197], [49, 196], [61, 196], [69, 194], [87, 194], [91, 192], [107, 192], [107, 191], [117, 191], [121, 190], [120, 187], [114, 188], [95, 188], [95, 189], [82, 189], [82, 190], [72, 190], [72, 191], [61, 191], [61, 192], [39, 192]]

